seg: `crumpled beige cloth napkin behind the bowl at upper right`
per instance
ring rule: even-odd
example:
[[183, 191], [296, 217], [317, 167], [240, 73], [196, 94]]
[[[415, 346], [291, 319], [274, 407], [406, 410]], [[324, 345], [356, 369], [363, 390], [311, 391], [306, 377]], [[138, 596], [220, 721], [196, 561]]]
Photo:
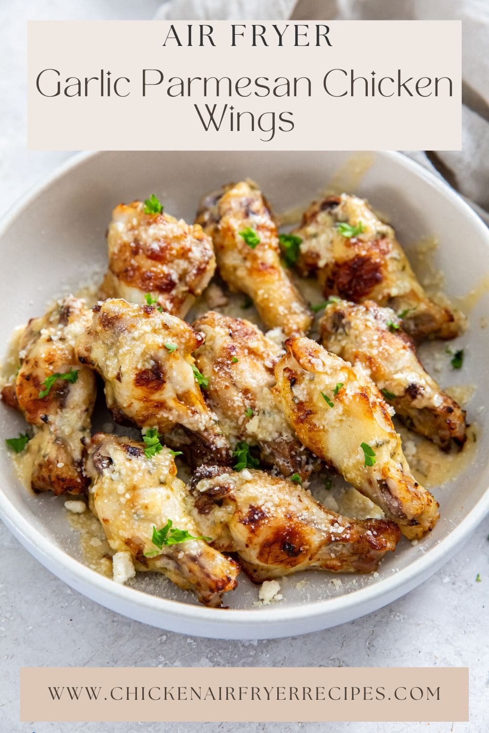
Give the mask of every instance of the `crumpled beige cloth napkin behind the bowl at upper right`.
[[165, 20], [461, 20], [461, 151], [404, 151], [489, 224], [489, 0], [167, 0]]

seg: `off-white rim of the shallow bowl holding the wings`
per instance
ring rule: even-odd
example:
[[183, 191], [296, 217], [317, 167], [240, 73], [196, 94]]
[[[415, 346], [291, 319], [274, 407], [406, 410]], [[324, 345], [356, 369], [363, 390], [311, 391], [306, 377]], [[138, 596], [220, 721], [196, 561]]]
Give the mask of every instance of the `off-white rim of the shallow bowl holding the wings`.
[[[25, 209], [26, 205], [37, 199], [40, 194], [45, 191], [50, 185], [55, 183], [60, 178], [69, 174], [73, 169], [78, 168], [86, 161], [96, 158], [100, 155], [104, 155], [106, 152], [112, 151], [88, 151], [79, 152], [75, 155], [67, 158], [59, 166], [56, 166], [51, 174], [43, 177], [43, 179], [29, 187], [23, 196], [14, 202], [4, 213], [4, 216], [0, 219], [0, 240], [5, 235], [10, 226], [15, 222], [19, 213]], [[130, 151], [121, 151], [130, 152]], [[186, 151], [189, 154], [193, 151]], [[284, 151], [290, 152], [290, 151]], [[328, 151], [323, 151], [328, 152]], [[355, 151], [350, 152], [350, 155], [354, 155]], [[447, 185], [444, 180], [436, 177], [435, 174], [427, 169], [424, 169], [416, 161], [408, 158], [406, 155], [402, 155], [401, 152], [394, 150], [386, 151], [373, 151], [375, 157], [386, 158], [392, 161], [400, 168], [407, 168], [418, 177], [424, 179], [428, 184], [434, 187], [442, 196], [449, 199], [449, 202], [457, 208], [457, 212], [460, 216], [465, 216], [471, 221], [471, 225], [475, 229], [479, 230], [479, 234], [482, 240], [485, 240], [486, 246], [489, 248], [489, 229], [482, 221], [482, 219], [474, 212], [473, 209], [463, 200], [463, 198], [457, 194], [452, 188]], [[222, 151], [225, 155], [226, 152]], [[276, 151], [277, 155], [280, 155], [279, 151]], [[485, 466], [485, 472], [482, 477], [488, 482], [489, 487], [489, 465]], [[286, 605], [280, 607], [280, 605], [273, 605], [273, 608], [268, 606], [267, 608], [249, 608], [249, 609], [222, 609], [222, 608], [207, 608], [203, 605], [195, 605], [191, 603], [185, 603], [184, 601], [170, 600], [160, 596], [155, 596], [131, 586], [121, 585], [115, 583], [111, 578], [106, 578], [100, 575], [95, 570], [90, 569], [83, 562], [70, 556], [65, 550], [57, 548], [49, 539], [47, 539], [42, 532], [33, 527], [29, 520], [22, 515], [22, 513], [14, 507], [13, 504], [4, 494], [0, 486], [0, 517], [4, 520], [4, 523], [12, 534], [17, 537], [24, 547], [38, 559], [45, 567], [48, 567], [51, 572], [57, 573], [52, 570], [54, 566], [59, 566], [62, 571], [61, 577], [63, 581], [69, 585], [75, 587], [82, 594], [89, 595], [84, 590], [84, 586], [89, 586], [92, 592], [97, 593], [98, 603], [108, 605], [109, 608], [115, 608], [117, 610], [117, 602], [119, 601], [124, 606], [125, 610], [117, 611], [124, 615], [129, 615], [128, 608], [139, 608], [140, 611], [158, 612], [161, 617], [173, 617], [185, 619], [186, 621], [203, 622], [207, 627], [209, 625], [253, 625], [262, 628], [268, 628], [272, 625], [276, 625], [280, 622], [299, 622], [299, 621], [312, 621], [312, 619], [318, 619], [323, 617], [326, 619], [327, 616], [338, 616], [338, 614], [345, 614], [345, 619], [352, 618], [351, 612], [355, 613], [355, 608], [368, 608], [372, 606], [376, 600], [389, 596], [390, 600], [394, 600], [394, 597], [402, 595], [402, 586], [405, 587], [405, 591], [408, 592], [418, 583], [421, 583], [428, 575], [430, 570], [435, 572], [438, 567], [443, 564], [444, 560], [448, 560], [452, 553], [455, 551], [458, 545], [466, 539], [468, 535], [473, 531], [477, 525], [484, 519], [485, 515], [489, 512], [489, 491], [485, 490], [477, 504], [471, 509], [470, 512], [460, 520], [455, 528], [449, 531], [443, 539], [439, 540], [433, 548], [427, 550], [426, 553], [422, 554], [418, 558], [411, 561], [407, 567], [393, 572], [387, 578], [382, 578], [376, 583], [370, 583], [363, 588], [359, 588], [352, 592], [348, 592], [339, 596], [329, 597], [323, 600], [316, 600], [309, 604], [304, 605]], [[94, 597], [89, 595], [89, 597]], [[104, 598], [104, 601], [100, 597]], [[389, 602], [389, 600], [387, 600]], [[375, 606], [378, 608], [378, 606]], [[348, 616], [348, 611], [350, 615]], [[364, 611], [368, 613], [368, 611]], [[358, 616], [362, 614], [359, 613]], [[356, 616], [355, 616], [356, 617]], [[341, 621], [339, 621], [341, 623]], [[309, 629], [296, 630], [295, 634], [306, 633]], [[196, 630], [198, 631], [198, 630]], [[186, 630], [183, 633], [189, 633]], [[191, 633], [191, 632], [190, 632]], [[262, 634], [260, 633], [260, 636]], [[229, 637], [227, 637], [229, 638]], [[271, 637], [270, 637], [271, 638]]]

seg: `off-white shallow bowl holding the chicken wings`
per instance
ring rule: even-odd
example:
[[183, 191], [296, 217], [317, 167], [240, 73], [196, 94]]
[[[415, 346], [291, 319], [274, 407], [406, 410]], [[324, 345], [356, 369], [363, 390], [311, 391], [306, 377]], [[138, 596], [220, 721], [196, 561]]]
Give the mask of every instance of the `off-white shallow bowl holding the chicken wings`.
[[[28, 194], [1, 226], [1, 344], [7, 344], [16, 325], [41, 314], [54, 295], [77, 290], [95, 270], [103, 270], [105, 230], [117, 203], [154, 192], [169, 213], [192, 221], [203, 193], [229, 180], [252, 177], [273, 207], [283, 211], [312, 199], [350, 157], [342, 152], [78, 155]], [[355, 193], [389, 213], [408, 254], [410, 243], [438, 235], [436, 264], [445, 273], [450, 297], [477, 287], [489, 271], [489, 232], [482, 221], [459, 196], [408, 158], [394, 152], [372, 158]], [[62, 499], [34, 497], [22, 487], [3, 438], [17, 435], [23, 420], [5, 405], [0, 407], [1, 516], [24, 547], [70, 586], [120, 614], [167, 630], [215, 638], [273, 638], [323, 629], [375, 611], [441, 567], [488, 511], [488, 413], [477, 410], [489, 393], [487, 331], [479, 324], [489, 312], [488, 304], [486, 292], [471, 313], [469, 330], [457, 339], [457, 347], [466, 347], [463, 369], [449, 372], [450, 383], [477, 385], [468, 410], [469, 419], [479, 425], [477, 456], [455, 482], [434, 490], [441, 504], [435, 531], [415, 547], [402, 541], [395, 553], [388, 553], [378, 578], [361, 576], [355, 585], [349, 576], [338, 587], [331, 583], [331, 575], [309, 572], [301, 576], [308, 581], [306, 586], [297, 588], [300, 578], [292, 576], [284, 583], [284, 600], [261, 607], [254, 605], [256, 589], [246, 578], [240, 579], [238, 590], [229, 594], [229, 610], [205, 608], [190, 594], [161, 583], [157, 575], [151, 581], [145, 577], [134, 586], [120, 586], [83, 563]], [[29, 589], [26, 594], [29, 597]]]

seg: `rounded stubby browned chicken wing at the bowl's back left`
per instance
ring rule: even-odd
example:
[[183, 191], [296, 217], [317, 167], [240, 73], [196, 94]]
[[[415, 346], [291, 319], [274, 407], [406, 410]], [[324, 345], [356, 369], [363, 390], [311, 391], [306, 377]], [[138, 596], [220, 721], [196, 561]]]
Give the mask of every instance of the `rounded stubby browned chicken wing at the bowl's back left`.
[[198, 224], [144, 208], [133, 201], [112, 213], [100, 298], [144, 303], [149, 292], [163, 311], [183, 318], [216, 269], [212, 241]]

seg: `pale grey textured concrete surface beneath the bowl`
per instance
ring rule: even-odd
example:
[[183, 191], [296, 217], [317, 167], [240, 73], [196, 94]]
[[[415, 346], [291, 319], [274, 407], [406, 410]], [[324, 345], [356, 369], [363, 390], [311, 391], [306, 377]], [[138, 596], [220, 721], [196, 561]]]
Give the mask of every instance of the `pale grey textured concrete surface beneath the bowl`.
[[[26, 151], [25, 19], [149, 18], [158, 1], [3, 1], [0, 4], [0, 209], [67, 153]], [[297, 638], [189, 638], [118, 616], [51, 575], [0, 524], [0, 731], [67, 733], [299, 730], [482, 733], [489, 721], [489, 518], [437, 575], [356, 622]], [[476, 583], [480, 573], [482, 582]], [[469, 666], [470, 723], [19, 723], [21, 666]]]

